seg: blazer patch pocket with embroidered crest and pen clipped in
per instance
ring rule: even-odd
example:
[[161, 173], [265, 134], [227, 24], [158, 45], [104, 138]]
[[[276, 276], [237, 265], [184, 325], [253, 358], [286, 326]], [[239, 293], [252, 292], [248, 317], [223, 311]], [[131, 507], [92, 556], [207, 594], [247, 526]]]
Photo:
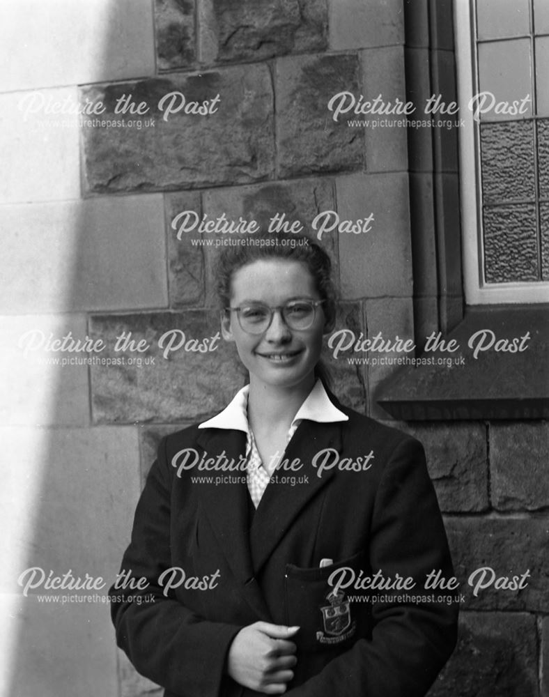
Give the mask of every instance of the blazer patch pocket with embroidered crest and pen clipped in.
[[[364, 569], [364, 552], [327, 567], [304, 569], [286, 565], [286, 621], [299, 626], [296, 643], [300, 650], [317, 651], [339, 648], [369, 635], [371, 604], [356, 602], [341, 588], [330, 585], [330, 576], [348, 567], [359, 573]], [[338, 574], [334, 576], [337, 578]]]

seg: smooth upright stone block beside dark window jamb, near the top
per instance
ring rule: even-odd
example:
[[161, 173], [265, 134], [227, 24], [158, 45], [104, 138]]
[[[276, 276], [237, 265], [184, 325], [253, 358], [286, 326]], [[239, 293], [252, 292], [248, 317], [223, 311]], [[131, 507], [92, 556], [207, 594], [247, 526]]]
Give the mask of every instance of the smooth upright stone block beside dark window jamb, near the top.
[[[402, 46], [367, 49], [362, 51], [364, 98], [374, 100], [381, 95], [383, 102], [396, 105], [406, 102], [404, 49]], [[370, 121], [364, 131], [366, 141], [366, 169], [369, 172], [406, 171], [408, 169], [408, 129], [396, 125], [402, 116], [359, 116]], [[389, 121], [389, 127], [374, 126], [378, 121]]]

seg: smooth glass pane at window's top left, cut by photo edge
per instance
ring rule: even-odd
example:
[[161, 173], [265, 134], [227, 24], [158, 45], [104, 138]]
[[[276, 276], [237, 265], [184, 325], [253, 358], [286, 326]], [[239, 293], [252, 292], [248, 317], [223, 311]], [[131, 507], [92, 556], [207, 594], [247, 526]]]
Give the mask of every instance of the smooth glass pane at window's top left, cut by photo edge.
[[529, 26], [528, 0], [477, 0], [479, 39], [527, 34]]

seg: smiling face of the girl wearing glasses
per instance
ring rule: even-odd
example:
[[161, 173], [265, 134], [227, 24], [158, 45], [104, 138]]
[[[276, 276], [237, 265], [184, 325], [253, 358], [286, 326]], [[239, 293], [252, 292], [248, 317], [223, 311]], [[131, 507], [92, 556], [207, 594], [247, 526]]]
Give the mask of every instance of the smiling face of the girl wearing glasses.
[[[289, 300], [304, 299], [320, 300], [320, 296], [311, 273], [300, 261], [252, 261], [233, 273], [231, 307], [256, 302], [279, 307]], [[318, 305], [314, 322], [306, 330], [289, 328], [277, 311], [268, 329], [252, 335], [242, 330], [237, 313], [231, 312], [222, 319], [222, 333], [226, 341], [235, 342], [251, 382], [285, 388], [312, 387], [324, 325], [325, 314], [322, 305]]]

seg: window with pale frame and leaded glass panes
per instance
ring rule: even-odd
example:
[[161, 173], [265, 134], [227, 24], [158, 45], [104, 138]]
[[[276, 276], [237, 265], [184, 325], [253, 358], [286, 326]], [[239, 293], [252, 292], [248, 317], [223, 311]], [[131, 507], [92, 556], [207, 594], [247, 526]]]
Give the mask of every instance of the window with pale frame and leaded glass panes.
[[469, 305], [549, 300], [549, 3], [455, 0]]

